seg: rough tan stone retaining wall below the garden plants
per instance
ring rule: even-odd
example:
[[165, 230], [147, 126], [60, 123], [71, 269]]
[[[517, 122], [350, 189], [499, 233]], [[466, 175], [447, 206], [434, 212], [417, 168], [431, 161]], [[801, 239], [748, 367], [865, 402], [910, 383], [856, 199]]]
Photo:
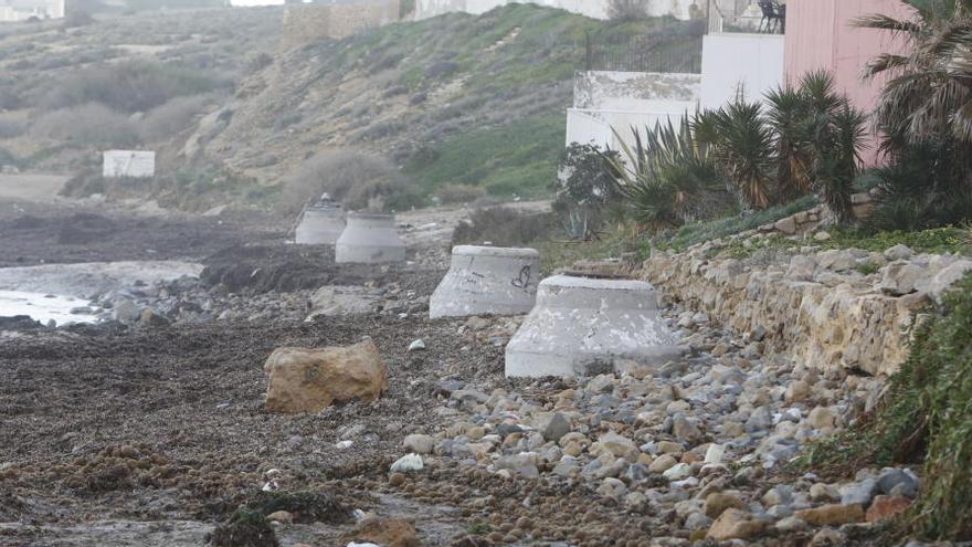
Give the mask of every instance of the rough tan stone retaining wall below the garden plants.
[[656, 253], [641, 276], [761, 350], [822, 370], [895, 372], [917, 313], [972, 270], [972, 261], [913, 256], [900, 245], [886, 253], [804, 249], [769, 264], [710, 257], [719, 246]]

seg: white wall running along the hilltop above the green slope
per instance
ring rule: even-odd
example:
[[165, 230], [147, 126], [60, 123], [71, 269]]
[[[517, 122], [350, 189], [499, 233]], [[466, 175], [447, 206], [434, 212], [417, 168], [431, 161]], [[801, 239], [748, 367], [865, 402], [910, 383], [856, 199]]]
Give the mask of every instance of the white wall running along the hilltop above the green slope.
[[[722, 0], [726, 1], [726, 0]], [[672, 15], [688, 19], [693, 13], [704, 12], [708, 0], [652, 0], [648, 15]], [[475, 15], [506, 6], [508, 3], [536, 3], [548, 8], [560, 8], [593, 19], [608, 19], [610, 0], [416, 0], [415, 19], [427, 19], [444, 13], [461, 11]]]

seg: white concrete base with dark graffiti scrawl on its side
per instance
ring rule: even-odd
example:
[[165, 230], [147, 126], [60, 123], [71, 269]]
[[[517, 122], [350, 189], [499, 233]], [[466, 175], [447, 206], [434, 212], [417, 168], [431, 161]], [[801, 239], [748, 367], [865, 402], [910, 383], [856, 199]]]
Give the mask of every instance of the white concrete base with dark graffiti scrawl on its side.
[[429, 301], [429, 316], [518, 315], [533, 308], [540, 253], [533, 249], [456, 246]]

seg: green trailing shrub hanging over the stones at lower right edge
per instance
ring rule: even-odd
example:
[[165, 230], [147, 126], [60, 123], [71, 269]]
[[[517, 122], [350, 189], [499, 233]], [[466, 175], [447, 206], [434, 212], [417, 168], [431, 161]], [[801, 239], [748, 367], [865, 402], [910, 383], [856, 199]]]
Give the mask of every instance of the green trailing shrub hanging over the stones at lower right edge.
[[[856, 440], [852, 440], [856, 438]], [[972, 275], [917, 329], [870, 427], [845, 456], [876, 464], [923, 461], [918, 502], [901, 525], [928, 539], [972, 539]]]

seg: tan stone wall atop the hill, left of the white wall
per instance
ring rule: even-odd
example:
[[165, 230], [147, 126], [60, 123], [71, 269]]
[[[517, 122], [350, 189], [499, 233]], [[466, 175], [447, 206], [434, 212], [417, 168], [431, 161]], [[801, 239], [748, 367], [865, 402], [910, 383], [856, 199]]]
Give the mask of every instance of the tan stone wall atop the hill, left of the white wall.
[[282, 45], [289, 50], [320, 40], [339, 40], [400, 19], [400, 0], [287, 4], [284, 9]]

